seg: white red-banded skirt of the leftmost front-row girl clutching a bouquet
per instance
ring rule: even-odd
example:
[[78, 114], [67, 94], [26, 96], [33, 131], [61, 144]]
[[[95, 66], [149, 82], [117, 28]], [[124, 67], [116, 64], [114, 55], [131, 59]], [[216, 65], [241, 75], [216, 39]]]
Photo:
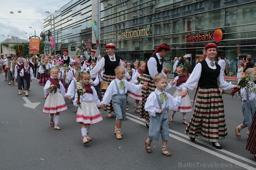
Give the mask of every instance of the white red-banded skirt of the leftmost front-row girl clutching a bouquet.
[[61, 93], [49, 93], [44, 103], [44, 113], [57, 113], [67, 110], [67, 105]]

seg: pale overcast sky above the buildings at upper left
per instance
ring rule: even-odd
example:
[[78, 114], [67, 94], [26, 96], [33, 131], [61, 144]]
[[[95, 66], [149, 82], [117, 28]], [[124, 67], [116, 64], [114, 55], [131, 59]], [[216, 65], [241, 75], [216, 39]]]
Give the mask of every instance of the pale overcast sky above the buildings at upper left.
[[[61, 9], [71, 0], [0, 0], [0, 42], [8, 38], [8, 35], [28, 39], [28, 34], [40, 36], [43, 28], [43, 20], [50, 14]], [[29, 9], [28, 9], [29, 8]], [[18, 13], [18, 11], [21, 13]], [[10, 13], [13, 11], [13, 14]], [[31, 29], [29, 27], [35, 28]], [[2, 36], [4, 35], [4, 36]]]

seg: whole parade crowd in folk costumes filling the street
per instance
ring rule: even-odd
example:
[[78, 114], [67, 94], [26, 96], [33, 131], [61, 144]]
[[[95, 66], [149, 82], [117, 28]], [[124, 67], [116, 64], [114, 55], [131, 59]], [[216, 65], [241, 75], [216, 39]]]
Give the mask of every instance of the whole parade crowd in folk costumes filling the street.
[[[187, 56], [183, 61], [182, 57], [175, 57], [172, 69], [175, 78], [167, 82], [170, 70], [163, 66], [163, 59], [170, 50], [167, 44], [160, 44], [148, 60], [134, 63], [117, 56], [115, 44], [109, 43], [105, 48], [106, 55], [98, 58], [96, 51], [91, 50], [89, 56], [85, 50], [85, 60], [83, 56], [72, 59], [64, 49], [63, 56], [33, 54], [31, 58], [23, 58], [9, 54], [0, 62], [6, 74], [5, 81], [17, 86], [18, 95], [23, 92], [28, 97], [30, 82], [39, 79], [39, 86], [44, 86], [42, 98], [46, 99], [43, 113], [49, 114], [50, 126], [56, 130], [61, 130], [60, 112], [67, 110], [65, 99], [69, 99], [74, 104], [76, 122], [81, 123], [83, 144], [92, 141], [91, 134], [89, 137], [91, 125], [103, 120], [100, 108], [107, 111], [109, 118], [116, 115], [114, 134], [116, 139], [122, 139], [121, 125], [126, 119], [127, 98], [134, 99], [135, 113], [146, 120], [149, 128], [146, 152], [152, 152], [151, 143], [157, 142], [161, 134], [161, 152], [165, 156], [171, 156], [167, 150], [168, 124], [175, 120], [176, 112], [182, 113], [181, 123], [186, 125], [185, 133], [192, 142], [199, 136], [211, 142], [213, 147], [222, 149], [219, 141], [226, 139], [228, 134], [220, 89], [234, 89], [234, 95], [241, 97], [244, 115], [243, 123], [234, 127], [235, 135], [241, 138], [241, 130], [248, 127], [245, 148], [256, 159], [256, 69], [251, 56], [238, 63], [238, 85], [233, 85], [224, 80], [226, 61], [218, 56], [217, 45], [209, 43], [205, 46], [204, 59], [196, 63], [193, 71]], [[218, 63], [215, 61], [217, 56]], [[186, 113], [192, 111], [188, 91], [196, 86], [193, 116], [186, 121]], [[167, 92], [170, 88], [176, 88], [173, 95]], [[170, 118], [169, 110], [172, 111]]]

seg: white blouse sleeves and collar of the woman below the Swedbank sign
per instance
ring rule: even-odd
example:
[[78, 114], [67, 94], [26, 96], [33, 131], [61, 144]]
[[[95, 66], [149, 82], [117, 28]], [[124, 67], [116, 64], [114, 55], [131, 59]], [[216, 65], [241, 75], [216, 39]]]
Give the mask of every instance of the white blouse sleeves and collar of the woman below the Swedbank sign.
[[[205, 61], [207, 62], [209, 68], [216, 69], [215, 64], [214, 64], [214, 66], [211, 66], [211, 64], [210, 64], [211, 61], [208, 58], [206, 58]], [[191, 75], [190, 75], [189, 79], [186, 81], [186, 83], [184, 83], [182, 89], [183, 90], [194, 89], [194, 87], [196, 86], [196, 84], [198, 83], [198, 81], [200, 79], [201, 72], [202, 72], [202, 64], [198, 63], [195, 65], [193, 72], [191, 73]], [[224, 80], [224, 77], [223, 77], [223, 74], [221, 73], [221, 71], [217, 78], [217, 83], [218, 83], [218, 86], [223, 90], [234, 89], [234, 85], [231, 84], [231, 82], [227, 83]]]

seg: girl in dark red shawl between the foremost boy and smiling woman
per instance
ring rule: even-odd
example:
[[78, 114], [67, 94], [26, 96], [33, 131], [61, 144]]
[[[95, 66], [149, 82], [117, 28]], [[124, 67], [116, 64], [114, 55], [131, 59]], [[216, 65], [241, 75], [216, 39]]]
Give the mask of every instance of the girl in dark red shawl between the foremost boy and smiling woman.
[[[181, 96], [183, 84], [188, 80], [188, 77], [185, 74], [185, 68], [184, 68], [183, 64], [181, 64], [179, 67], [177, 67], [177, 74], [178, 74], [178, 76], [175, 77], [174, 81], [170, 82], [170, 87], [177, 88], [177, 90], [173, 94], [174, 98], [177, 96]], [[167, 88], [167, 89], [169, 89], [169, 88]], [[186, 122], [186, 113], [191, 112], [192, 110], [191, 110], [191, 104], [190, 104], [188, 94], [184, 98], [182, 98], [182, 104], [178, 109], [174, 109], [174, 108], [169, 108], [169, 109], [172, 110], [172, 115], [169, 120], [170, 122], [173, 122], [174, 114], [178, 111], [178, 112], [182, 113], [182, 116], [183, 116], [182, 123], [189, 124], [188, 122]]]

